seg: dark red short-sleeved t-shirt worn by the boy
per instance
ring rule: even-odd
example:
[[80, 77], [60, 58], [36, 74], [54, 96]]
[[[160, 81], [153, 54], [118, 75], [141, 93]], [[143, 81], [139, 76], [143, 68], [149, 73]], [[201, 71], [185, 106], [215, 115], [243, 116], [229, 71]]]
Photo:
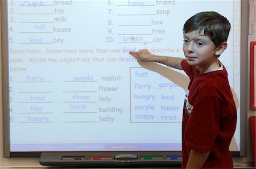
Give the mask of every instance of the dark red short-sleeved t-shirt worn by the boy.
[[183, 109], [183, 168], [191, 150], [210, 151], [203, 168], [233, 168], [229, 145], [236, 130], [237, 109], [225, 67], [202, 74], [186, 60], [181, 66], [191, 80]]

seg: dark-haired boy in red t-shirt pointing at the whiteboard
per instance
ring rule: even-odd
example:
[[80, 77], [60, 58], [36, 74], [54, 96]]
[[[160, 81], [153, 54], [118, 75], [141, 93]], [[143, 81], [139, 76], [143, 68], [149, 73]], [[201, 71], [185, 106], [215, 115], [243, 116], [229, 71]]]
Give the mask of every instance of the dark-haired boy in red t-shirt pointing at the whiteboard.
[[184, 70], [190, 82], [182, 122], [183, 168], [233, 168], [229, 145], [237, 112], [228, 73], [218, 60], [228, 44], [229, 21], [217, 12], [200, 12], [185, 22], [185, 59], [156, 56], [147, 49], [130, 52], [143, 62]]

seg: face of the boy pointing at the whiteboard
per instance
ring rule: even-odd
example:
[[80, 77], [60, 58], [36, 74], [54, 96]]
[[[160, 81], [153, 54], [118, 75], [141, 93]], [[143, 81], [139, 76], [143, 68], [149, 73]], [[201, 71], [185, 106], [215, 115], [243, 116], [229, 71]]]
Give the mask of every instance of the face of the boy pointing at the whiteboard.
[[204, 73], [210, 66], [218, 64], [216, 47], [204, 31], [192, 31], [184, 34], [183, 52], [189, 65], [196, 66], [197, 71]]

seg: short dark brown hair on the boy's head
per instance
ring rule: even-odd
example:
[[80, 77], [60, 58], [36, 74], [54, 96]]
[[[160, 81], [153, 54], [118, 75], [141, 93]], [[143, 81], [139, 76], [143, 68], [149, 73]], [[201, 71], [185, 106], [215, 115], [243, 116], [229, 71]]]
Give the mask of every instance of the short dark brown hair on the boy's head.
[[210, 37], [216, 48], [228, 40], [230, 23], [224, 16], [217, 12], [199, 12], [185, 22], [183, 33], [204, 31]]

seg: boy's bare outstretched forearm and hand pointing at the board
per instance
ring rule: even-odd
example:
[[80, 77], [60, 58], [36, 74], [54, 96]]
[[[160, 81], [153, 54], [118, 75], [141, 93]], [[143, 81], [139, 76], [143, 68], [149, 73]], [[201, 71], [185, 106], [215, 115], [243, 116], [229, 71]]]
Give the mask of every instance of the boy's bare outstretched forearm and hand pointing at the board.
[[158, 56], [155, 54], [151, 54], [147, 49], [142, 49], [142, 50], [139, 50], [138, 52], [131, 51], [130, 54], [131, 56], [136, 58], [138, 61], [158, 62], [160, 64], [164, 64], [166, 66], [182, 70], [181, 61], [184, 60], [184, 58]]

